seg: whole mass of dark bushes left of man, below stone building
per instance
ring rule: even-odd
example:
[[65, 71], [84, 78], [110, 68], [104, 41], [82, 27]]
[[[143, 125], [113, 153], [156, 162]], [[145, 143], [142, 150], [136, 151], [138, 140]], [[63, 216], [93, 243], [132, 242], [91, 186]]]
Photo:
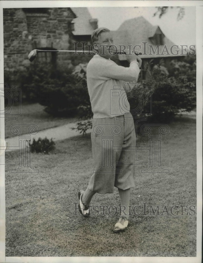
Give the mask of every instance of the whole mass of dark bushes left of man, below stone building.
[[[53, 69], [51, 65], [33, 63], [27, 70], [4, 71], [5, 82], [22, 90], [23, 102], [38, 102], [54, 116], [68, 117], [89, 107], [86, 65], [80, 64], [72, 73]], [[83, 113], [82, 113], [83, 114]]]

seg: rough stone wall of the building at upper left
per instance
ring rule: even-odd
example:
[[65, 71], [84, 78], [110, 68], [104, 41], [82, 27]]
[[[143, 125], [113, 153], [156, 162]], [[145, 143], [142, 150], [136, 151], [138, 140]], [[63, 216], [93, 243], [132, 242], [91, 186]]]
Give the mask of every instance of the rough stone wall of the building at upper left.
[[[72, 10], [40, 8], [36, 13], [38, 10], [3, 9], [4, 69], [29, 65], [28, 54], [36, 48], [69, 49], [73, 41], [71, 21], [75, 17]], [[36, 59], [41, 59], [42, 56]], [[70, 54], [63, 53], [63, 56], [58, 56], [59, 64], [64, 61], [70, 62]]]

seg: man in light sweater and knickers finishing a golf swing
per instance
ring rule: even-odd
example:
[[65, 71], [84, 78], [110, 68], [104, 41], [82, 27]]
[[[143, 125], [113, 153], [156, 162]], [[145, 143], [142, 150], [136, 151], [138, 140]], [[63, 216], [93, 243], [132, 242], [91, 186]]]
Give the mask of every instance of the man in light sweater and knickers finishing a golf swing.
[[[121, 216], [113, 230], [120, 232], [128, 225], [130, 188], [135, 186], [135, 156], [129, 149], [135, 146], [136, 138], [127, 99], [122, 100], [125, 101], [125, 112], [121, 112], [122, 105], [119, 105], [119, 100], [111, 99], [111, 95], [114, 87], [120, 87], [114, 94], [119, 98], [125, 93], [125, 83], [137, 82], [142, 60], [135, 54], [126, 55], [130, 62], [128, 68], [110, 60], [114, 47], [107, 28], [96, 29], [92, 33], [92, 43], [98, 51], [87, 65], [87, 87], [94, 114], [91, 133], [94, 171], [87, 189], [78, 193], [78, 206], [83, 216], [89, 215], [93, 195], [113, 193], [115, 186], [120, 195]], [[102, 140], [112, 135], [113, 144], [108, 139]]]

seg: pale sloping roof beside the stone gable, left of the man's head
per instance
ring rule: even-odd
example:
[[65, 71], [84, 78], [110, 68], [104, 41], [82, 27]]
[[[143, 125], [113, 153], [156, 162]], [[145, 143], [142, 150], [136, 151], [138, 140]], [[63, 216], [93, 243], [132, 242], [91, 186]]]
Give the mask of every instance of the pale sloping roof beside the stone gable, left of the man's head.
[[72, 11], [76, 14], [76, 18], [72, 20], [74, 23], [73, 35], [92, 35], [94, 31], [89, 20], [92, 19], [87, 7], [71, 7]]

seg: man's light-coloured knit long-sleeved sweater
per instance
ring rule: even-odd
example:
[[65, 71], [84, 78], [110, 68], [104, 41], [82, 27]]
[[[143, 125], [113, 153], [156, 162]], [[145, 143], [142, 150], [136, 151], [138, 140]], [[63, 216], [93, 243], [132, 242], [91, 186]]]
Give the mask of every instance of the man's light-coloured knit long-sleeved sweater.
[[129, 82], [136, 83], [139, 73], [136, 61], [125, 68], [110, 59], [94, 55], [87, 65], [87, 88], [93, 118], [112, 118], [129, 113], [130, 105], [124, 87]]

